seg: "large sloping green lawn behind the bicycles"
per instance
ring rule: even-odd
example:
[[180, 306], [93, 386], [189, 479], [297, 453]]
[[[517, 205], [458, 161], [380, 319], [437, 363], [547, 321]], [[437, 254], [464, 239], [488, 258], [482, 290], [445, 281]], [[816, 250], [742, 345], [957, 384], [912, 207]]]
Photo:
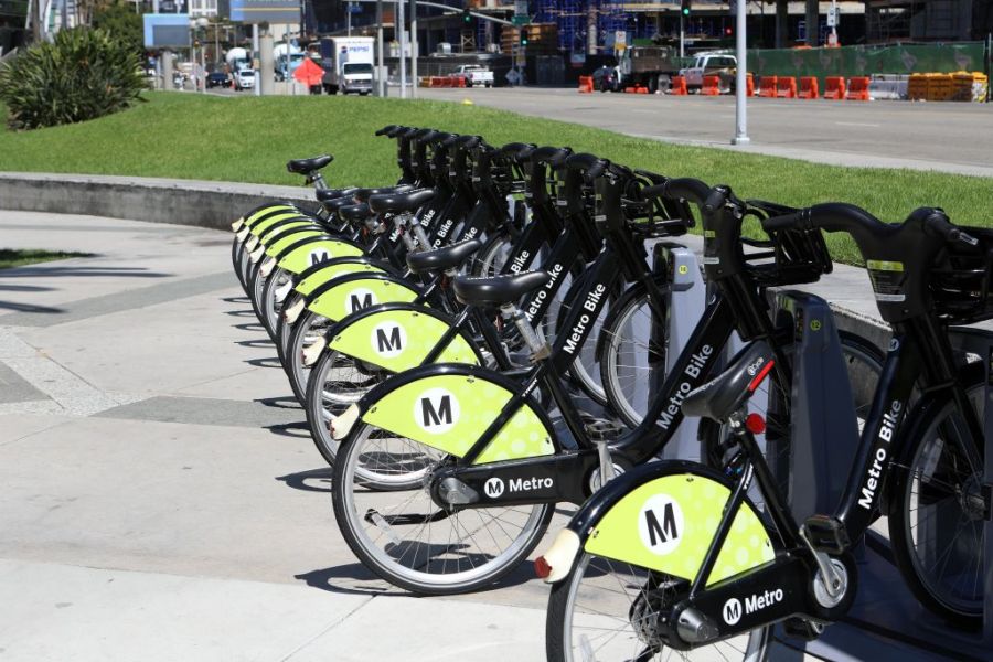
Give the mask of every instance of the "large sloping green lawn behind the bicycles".
[[[345, 97], [216, 97], [150, 93], [149, 103], [96, 121], [30, 132], [0, 130], [0, 170], [298, 183], [288, 159], [331, 152], [332, 184], [385, 184], [396, 177], [394, 142], [373, 131], [429, 126], [510, 141], [565, 145], [633, 168], [729, 184], [746, 197], [805, 206], [851, 202], [888, 221], [941, 206], [960, 224], [993, 224], [993, 179], [911, 170], [851, 169], [674, 146], [480, 106]], [[549, 115], [554, 108], [549, 108]], [[0, 107], [0, 119], [3, 116]], [[234, 212], [234, 211], [233, 211]], [[837, 259], [857, 261], [848, 242]]]

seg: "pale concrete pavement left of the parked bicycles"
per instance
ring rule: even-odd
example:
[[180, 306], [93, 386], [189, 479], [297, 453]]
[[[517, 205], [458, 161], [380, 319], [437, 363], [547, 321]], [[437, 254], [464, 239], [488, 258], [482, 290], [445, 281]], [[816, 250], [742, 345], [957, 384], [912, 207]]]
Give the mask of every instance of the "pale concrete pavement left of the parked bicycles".
[[418, 599], [349, 552], [228, 233], [26, 212], [0, 233], [94, 254], [0, 271], [0, 659], [544, 658], [530, 564]]

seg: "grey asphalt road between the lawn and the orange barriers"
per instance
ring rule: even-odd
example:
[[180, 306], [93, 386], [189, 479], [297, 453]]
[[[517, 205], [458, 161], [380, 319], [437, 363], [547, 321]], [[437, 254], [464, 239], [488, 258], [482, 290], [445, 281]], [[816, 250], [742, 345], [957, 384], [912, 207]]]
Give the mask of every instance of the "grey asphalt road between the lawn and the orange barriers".
[[[392, 90], [393, 92], [393, 90]], [[733, 97], [578, 94], [562, 88], [420, 89], [458, 100], [660, 140], [730, 147]], [[993, 177], [993, 105], [748, 100], [751, 143], [736, 147], [843, 166]]]

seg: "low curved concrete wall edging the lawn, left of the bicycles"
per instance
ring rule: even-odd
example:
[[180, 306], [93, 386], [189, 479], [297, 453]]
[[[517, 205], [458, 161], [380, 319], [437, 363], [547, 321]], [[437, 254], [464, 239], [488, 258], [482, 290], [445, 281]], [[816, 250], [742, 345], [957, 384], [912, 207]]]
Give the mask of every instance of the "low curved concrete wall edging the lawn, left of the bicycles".
[[313, 202], [302, 186], [103, 174], [0, 172], [0, 207], [231, 229], [266, 202]]

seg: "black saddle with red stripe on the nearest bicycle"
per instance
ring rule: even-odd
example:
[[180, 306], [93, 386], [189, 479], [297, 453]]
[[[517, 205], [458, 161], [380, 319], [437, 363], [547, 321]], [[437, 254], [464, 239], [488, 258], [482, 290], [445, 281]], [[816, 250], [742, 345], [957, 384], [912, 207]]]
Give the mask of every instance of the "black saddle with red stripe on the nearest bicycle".
[[767, 342], [751, 343], [738, 352], [724, 372], [686, 395], [683, 416], [727, 420], [755, 393], [773, 363], [775, 355]]

